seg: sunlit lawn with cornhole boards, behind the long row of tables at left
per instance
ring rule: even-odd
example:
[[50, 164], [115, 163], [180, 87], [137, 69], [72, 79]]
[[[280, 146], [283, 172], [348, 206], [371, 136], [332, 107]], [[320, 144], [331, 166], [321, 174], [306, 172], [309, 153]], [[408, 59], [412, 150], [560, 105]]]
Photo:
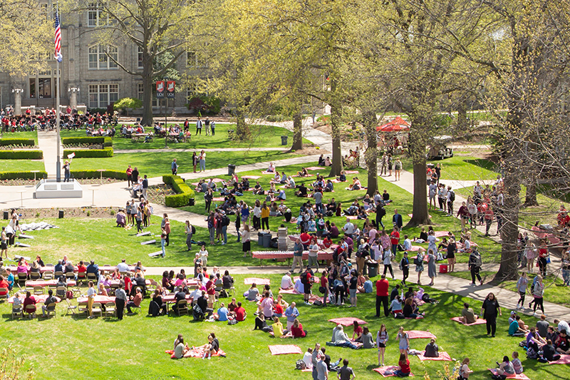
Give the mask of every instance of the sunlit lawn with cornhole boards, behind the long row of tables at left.
[[[192, 266], [194, 255], [199, 251], [197, 245], [192, 246], [192, 251], [188, 252], [186, 247], [186, 235], [184, 225], [181, 222], [172, 220], [170, 233], [170, 245], [166, 247], [166, 257], [150, 258], [149, 253], [160, 251], [160, 221], [162, 215], [152, 215], [150, 227], [145, 231], [150, 231], [155, 237], [136, 237], [136, 226], [131, 230], [114, 227], [116, 225], [115, 218], [98, 219], [98, 218], [64, 218], [64, 219], [47, 219], [46, 222], [57, 225], [58, 229], [38, 230], [29, 232], [35, 237], [31, 241], [32, 247], [29, 248], [11, 248], [9, 256], [23, 255], [26, 257], [36, 257], [41, 255], [43, 262], [57, 264], [57, 261], [68, 255], [69, 259], [76, 263], [79, 260], [97, 260], [99, 265], [116, 265], [121, 259], [133, 263], [138, 260], [142, 261], [146, 266], [176, 266], [189, 265]], [[23, 223], [35, 220], [24, 220]], [[208, 230], [196, 227], [197, 233], [195, 240], [208, 240]], [[234, 232], [233, 223], [229, 225], [229, 232]], [[157, 242], [152, 245], [140, 245], [140, 242], [155, 239]], [[81, 250], [62, 250], [61, 247], [81, 247]], [[264, 250], [257, 245], [257, 236], [255, 242], [252, 242], [254, 250]], [[258, 265], [257, 260], [251, 257], [245, 258], [242, 254], [242, 243], [237, 242], [236, 236], [228, 235], [227, 245], [216, 245], [215, 247], [207, 247], [209, 251], [208, 266], [228, 266], [228, 265]], [[266, 264], [274, 264], [274, 262], [266, 260]]]

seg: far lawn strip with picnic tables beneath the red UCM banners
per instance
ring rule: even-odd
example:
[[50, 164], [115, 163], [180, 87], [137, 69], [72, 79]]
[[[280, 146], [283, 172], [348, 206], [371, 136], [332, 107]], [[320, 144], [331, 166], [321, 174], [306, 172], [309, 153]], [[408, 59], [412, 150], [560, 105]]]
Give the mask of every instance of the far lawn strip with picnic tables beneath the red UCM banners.
[[[180, 123], [183, 125], [184, 123]], [[245, 142], [237, 142], [229, 140], [227, 131], [229, 129], [235, 130], [234, 124], [218, 124], [216, 123], [216, 134], [214, 136], [205, 135], [205, 130], [202, 130], [202, 135], [195, 135], [196, 127], [195, 124], [190, 125], [190, 131], [192, 132], [192, 139], [187, 143], [173, 143], [168, 142], [170, 148], [177, 149], [213, 149], [213, 148], [290, 148], [293, 143], [293, 132], [287, 130], [286, 128], [274, 127], [272, 125], [252, 125], [252, 140]], [[152, 131], [149, 128], [147, 132]], [[116, 150], [128, 150], [128, 149], [161, 149], [165, 147], [164, 138], [155, 138], [151, 143], [133, 143], [128, 138], [120, 137], [120, 130], [117, 129], [117, 134], [113, 138], [113, 148]], [[61, 137], [76, 137], [85, 136], [85, 130], [63, 130], [61, 131]], [[281, 145], [281, 136], [287, 136], [287, 145]], [[310, 144], [311, 141], [303, 139], [304, 143]]]

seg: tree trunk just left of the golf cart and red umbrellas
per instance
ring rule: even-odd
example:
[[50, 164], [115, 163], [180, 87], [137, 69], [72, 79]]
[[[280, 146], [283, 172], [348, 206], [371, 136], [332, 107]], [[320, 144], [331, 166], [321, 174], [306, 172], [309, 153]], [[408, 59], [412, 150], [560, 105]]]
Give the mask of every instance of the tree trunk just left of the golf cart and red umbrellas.
[[[414, 123], [412, 125], [420, 125]], [[423, 128], [418, 128], [410, 133], [408, 141], [410, 155], [413, 160], [414, 170], [414, 200], [412, 219], [406, 227], [418, 227], [418, 225], [429, 225], [430, 217], [427, 213], [427, 173], [425, 171], [425, 140], [422, 138]]]

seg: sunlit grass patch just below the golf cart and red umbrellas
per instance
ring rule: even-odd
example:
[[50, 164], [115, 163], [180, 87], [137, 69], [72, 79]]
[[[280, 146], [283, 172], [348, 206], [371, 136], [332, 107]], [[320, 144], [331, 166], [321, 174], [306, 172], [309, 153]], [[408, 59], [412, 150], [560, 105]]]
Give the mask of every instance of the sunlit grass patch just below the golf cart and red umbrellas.
[[[409, 158], [401, 158], [404, 170], [412, 171], [412, 161]], [[441, 165], [442, 181], [445, 180], [492, 180], [497, 178], [494, 172], [495, 165], [489, 160], [475, 158], [470, 155], [454, 155], [445, 160], [427, 161]]]

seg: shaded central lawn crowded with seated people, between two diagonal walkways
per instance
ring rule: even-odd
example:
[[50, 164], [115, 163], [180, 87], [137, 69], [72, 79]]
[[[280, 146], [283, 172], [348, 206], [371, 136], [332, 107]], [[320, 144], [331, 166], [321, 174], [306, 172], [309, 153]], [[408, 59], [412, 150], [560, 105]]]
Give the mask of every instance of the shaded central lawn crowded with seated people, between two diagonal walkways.
[[[306, 165], [289, 165], [277, 169], [279, 170], [279, 172], [284, 171], [287, 175], [292, 175], [301, 170], [302, 166], [311, 166], [311, 165], [316, 165], [316, 163], [306, 164]], [[366, 170], [359, 168], [358, 171], [359, 173], [356, 176], [358, 176], [358, 178], [361, 180], [361, 183], [364, 186], [366, 186], [368, 184], [368, 174]], [[309, 173], [317, 173], [317, 172], [310, 171]], [[328, 170], [323, 170], [323, 173], [328, 174]], [[239, 173], [240, 177], [242, 175], [261, 175], [261, 174], [260, 171]], [[348, 178], [352, 178], [353, 176], [355, 175], [348, 175]], [[271, 180], [271, 178], [272, 175], [261, 175], [261, 179], [259, 179], [259, 181], [265, 190], [269, 189], [269, 180]], [[309, 184], [313, 183], [316, 180], [316, 177], [313, 176], [308, 178], [294, 178], [294, 179], [297, 185], [299, 185], [300, 183], [305, 183], [307, 187], [309, 187]], [[255, 181], [256, 180], [250, 180], [249, 182], [250, 185], [254, 186]], [[198, 180], [188, 180], [187, 182], [190, 185], [190, 183], [196, 183], [198, 182]], [[365, 190], [361, 191], [345, 190], [347, 186], [348, 186], [347, 183], [335, 183], [334, 184], [335, 191], [331, 193], [326, 192], [323, 197], [323, 203], [326, 205], [328, 200], [331, 197], [334, 197], [336, 202], [342, 202], [344, 210], [348, 208], [349, 205], [351, 205], [353, 200], [355, 200], [356, 198], [361, 200], [366, 195]], [[397, 208], [398, 212], [400, 212], [400, 214], [403, 216], [404, 228], [403, 232], [400, 232], [400, 237], [402, 237], [402, 240], [403, 240], [403, 235], [408, 235], [410, 239], [413, 239], [413, 237], [419, 237], [420, 227], [414, 227], [414, 228], [405, 227], [406, 223], [410, 220], [410, 217], [408, 217], [408, 213], [412, 212], [413, 195], [411, 195], [409, 192], [406, 192], [405, 190], [402, 190], [401, 188], [398, 188], [397, 185], [387, 180], [384, 180], [383, 178], [379, 178], [378, 186], [380, 192], [382, 192], [384, 189], [388, 190], [388, 193], [390, 194], [390, 199], [392, 200], [392, 203], [390, 203], [390, 205], [386, 207], [386, 216], [383, 218], [384, 225], [387, 228], [390, 228], [391, 230], [392, 215], [394, 213], [394, 209]], [[276, 188], [279, 189], [278, 186], [276, 186]], [[299, 207], [301, 207], [301, 205], [304, 202], [306, 202], [306, 198], [296, 197], [294, 195], [294, 190], [291, 189], [286, 189], [285, 192], [287, 196], [285, 204], [291, 209], [291, 212], [293, 212], [294, 216], [299, 215]], [[264, 200], [264, 197], [253, 195], [252, 192], [245, 192], [245, 194], [242, 197], [237, 197], [237, 198], [238, 202], [239, 200], [244, 200], [251, 207], [253, 207], [256, 199], [259, 198], [259, 200], [261, 201]], [[221, 202], [213, 202], [212, 210], [214, 205], [219, 205], [220, 203]], [[202, 215], [206, 215], [206, 212], [204, 210], [204, 198], [202, 193], [197, 193], [195, 206], [182, 207], [182, 210], [187, 210]], [[435, 210], [430, 211], [430, 215], [432, 215], [432, 224], [435, 230], [444, 230], [444, 231], [451, 230], [454, 231], [456, 234], [460, 232], [461, 223], [456, 218], [445, 217], [445, 213]], [[374, 219], [375, 219], [375, 214], [372, 213], [371, 220]], [[335, 222], [339, 230], [346, 223], [346, 217], [326, 217], [325, 220], [330, 220], [331, 222]], [[361, 228], [363, 227], [364, 224], [363, 220], [352, 220], [352, 222]], [[284, 223], [283, 217], [269, 217], [269, 227], [271, 231], [276, 231], [279, 225], [281, 225], [281, 223]], [[289, 227], [289, 232], [298, 233], [298, 230], [295, 229], [296, 225], [289, 223], [286, 224], [286, 227]], [[500, 245], [497, 245], [497, 243], [487, 238], [479, 237], [476, 232], [473, 233], [472, 240], [476, 242], [477, 245], [480, 246], [480, 252], [482, 253], [482, 257], [485, 262], [498, 262], [498, 260], [500, 260]], [[421, 246], [427, 247], [427, 243]], [[457, 255], [457, 262], [467, 262], [467, 261], [468, 261], [468, 255], [462, 253]]]

